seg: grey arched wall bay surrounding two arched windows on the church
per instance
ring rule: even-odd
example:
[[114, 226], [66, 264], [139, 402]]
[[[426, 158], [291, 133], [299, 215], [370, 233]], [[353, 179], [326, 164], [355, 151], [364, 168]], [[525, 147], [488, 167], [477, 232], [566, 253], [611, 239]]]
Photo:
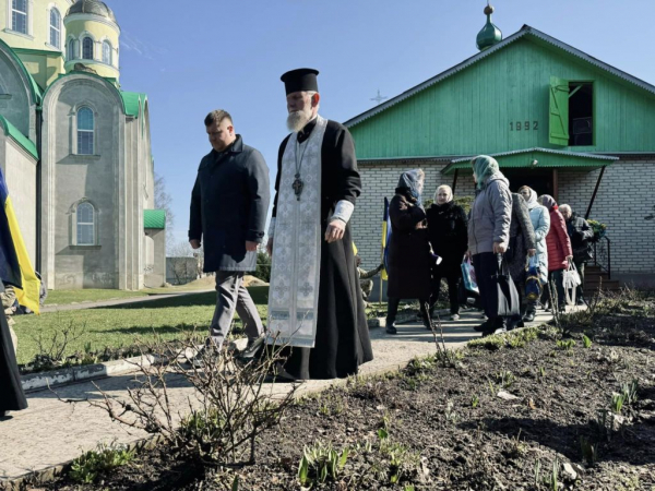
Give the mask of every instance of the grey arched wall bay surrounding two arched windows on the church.
[[[104, 82], [64, 79], [44, 111], [44, 187], [52, 196], [51, 227], [55, 288], [121, 288], [118, 249], [124, 241], [121, 227], [121, 119], [120, 101]], [[94, 155], [78, 155], [75, 115], [80, 107], [94, 111]], [[95, 209], [93, 246], [78, 244], [74, 211], [81, 200]], [[44, 203], [44, 206], [47, 206]], [[48, 231], [48, 230], [46, 230]], [[118, 258], [120, 259], [120, 258]], [[123, 286], [124, 288], [124, 286]]]

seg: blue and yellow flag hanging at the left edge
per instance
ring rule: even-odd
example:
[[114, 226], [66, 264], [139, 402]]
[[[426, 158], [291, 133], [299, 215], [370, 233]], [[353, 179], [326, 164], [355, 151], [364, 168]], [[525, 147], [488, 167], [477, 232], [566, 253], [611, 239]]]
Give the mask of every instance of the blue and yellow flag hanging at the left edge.
[[0, 278], [3, 283], [16, 287], [16, 299], [21, 306], [39, 313], [40, 282], [27, 255], [2, 169], [0, 206]]

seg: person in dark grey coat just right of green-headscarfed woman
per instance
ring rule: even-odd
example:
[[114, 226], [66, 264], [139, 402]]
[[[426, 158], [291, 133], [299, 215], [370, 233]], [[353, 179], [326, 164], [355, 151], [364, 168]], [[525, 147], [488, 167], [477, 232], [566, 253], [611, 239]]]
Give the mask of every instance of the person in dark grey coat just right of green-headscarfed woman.
[[[537, 253], [535, 228], [529, 218], [527, 203], [521, 194], [512, 194], [512, 221], [510, 223], [510, 247], [505, 252], [505, 261], [510, 267], [510, 275], [516, 285], [520, 302], [523, 303], [525, 292], [525, 268], [527, 258]], [[508, 331], [523, 327], [521, 316], [508, 321]]]

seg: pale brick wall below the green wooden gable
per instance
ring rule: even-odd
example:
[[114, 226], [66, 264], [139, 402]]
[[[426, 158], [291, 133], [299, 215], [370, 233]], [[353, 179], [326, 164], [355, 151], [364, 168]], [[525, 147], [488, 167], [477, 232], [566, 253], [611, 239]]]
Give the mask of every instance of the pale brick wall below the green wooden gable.
[[[452, 185], [453, 176], [443, 176], [446, 163], [389, 161], [361, 163], [359, 170], [362, 193], [353, 215], [353, 235], [364, 267], [372, 268], [380, 262], [380, 239], [384, 196], [391, 199], [400, 175], [420, 167], [426, 172], [424, 201], [431, 199], [438, 185]], [[559, 202], [569, 203], [584, 215], [600, 170], [559, 172]], [[644, 217], [655, 213], [655, 157], [626, 157], [609, 166], [591, 218], [607, 224], [611, 239], [612, 274], [652, 274], [655, 272], [655, 220]], [[469, 173], [460, 175], [455, 195], [473, 195], [474, 183]]]

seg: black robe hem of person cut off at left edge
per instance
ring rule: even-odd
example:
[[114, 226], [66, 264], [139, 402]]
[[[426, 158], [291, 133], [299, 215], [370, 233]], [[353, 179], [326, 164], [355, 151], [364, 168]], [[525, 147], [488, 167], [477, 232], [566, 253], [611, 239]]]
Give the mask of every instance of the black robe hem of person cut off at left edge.
[[[0, 291], [4, 291], [2, 282], [0, 282]], [[0, 412], [17, 411], [26, 407], [27, 400], [21, 385], [9, 323], [2, 309], [0, 312]]]

